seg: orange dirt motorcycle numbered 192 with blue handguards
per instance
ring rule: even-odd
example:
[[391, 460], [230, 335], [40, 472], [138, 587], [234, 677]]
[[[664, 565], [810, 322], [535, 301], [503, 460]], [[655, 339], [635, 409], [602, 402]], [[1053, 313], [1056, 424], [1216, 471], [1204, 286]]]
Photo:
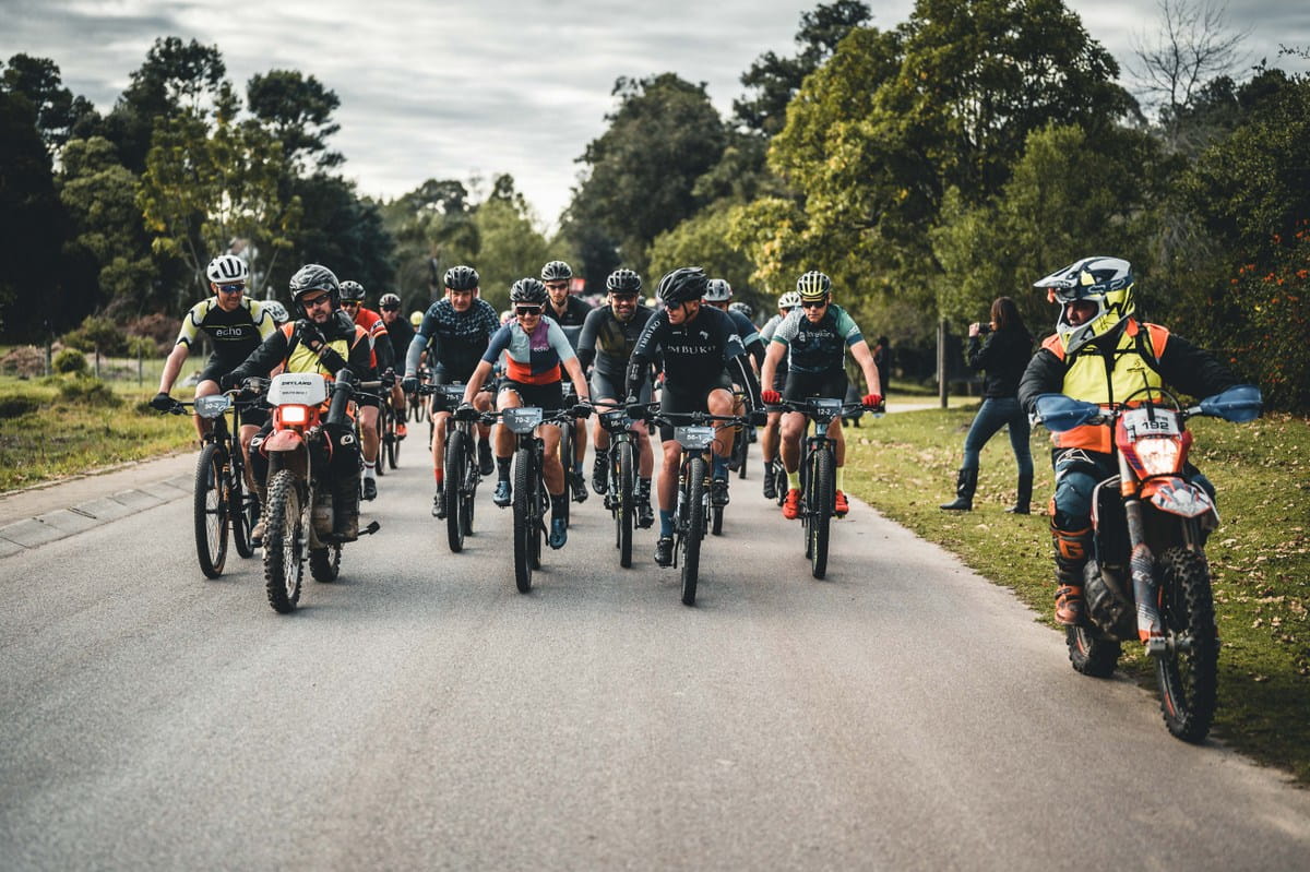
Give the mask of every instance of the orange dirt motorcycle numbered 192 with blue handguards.
[[1155, 665], [1169, 732], [1205, 738], [1214, 718], [1218, 630], [1205, 539], [1220, 524], [1209, 492], [1188, 478], [1196, 415], [1241, 423], [1260, 414], [1259, 388], [1238, 385], [1184, 409], [1171, 393], [1144, 388], [1110, 407], [1043, 394], [1035, 420], [1053, 432], [1110, 427], [1119, 474], [1095, 487], [1094, 554], [1083, 570], [1086, 618], [1065, 628], [1069, 661], [1086, 676], [1115, 670], [1125, 642]]

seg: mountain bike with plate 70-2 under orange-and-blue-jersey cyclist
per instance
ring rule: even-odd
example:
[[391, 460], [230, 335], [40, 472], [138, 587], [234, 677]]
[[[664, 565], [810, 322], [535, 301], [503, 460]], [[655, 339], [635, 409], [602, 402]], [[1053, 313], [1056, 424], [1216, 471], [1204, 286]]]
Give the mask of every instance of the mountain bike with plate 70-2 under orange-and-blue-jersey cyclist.
[[[520, 406], [482, 412], [479, 419], [486, 424], [500, 422], [517, 440], [514, 452], [514, 584], [519, 593], [528, 593], [532, 590], [532, 571], [541, 568], [541, 542], [550, 516], [550, 494], [542, 478], [546, 448], [537, 436], [537, 428], [544, 424], [558, 424], [561, 429], [572, 427], [572, 410], [553, 410], [546, 415], [537, 406]], [[567, 469], [565, 473], [567, 498]]]

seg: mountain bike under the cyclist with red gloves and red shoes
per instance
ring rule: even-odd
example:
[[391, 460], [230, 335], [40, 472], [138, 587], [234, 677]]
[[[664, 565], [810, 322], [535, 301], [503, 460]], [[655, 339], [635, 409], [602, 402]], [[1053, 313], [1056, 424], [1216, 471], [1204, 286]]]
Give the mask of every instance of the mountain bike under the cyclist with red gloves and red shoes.
[[833, 422], [840, 427], [842, 415], [863, 406], [827, 397], [783, 399], [781, 405], [806, 416], [807, 435], [800, 448], [800, 528], [810, 573], [823, 579], [828, 573], [828, 538], [837, 507], [837, 443], [828, 436], [828, 428]]

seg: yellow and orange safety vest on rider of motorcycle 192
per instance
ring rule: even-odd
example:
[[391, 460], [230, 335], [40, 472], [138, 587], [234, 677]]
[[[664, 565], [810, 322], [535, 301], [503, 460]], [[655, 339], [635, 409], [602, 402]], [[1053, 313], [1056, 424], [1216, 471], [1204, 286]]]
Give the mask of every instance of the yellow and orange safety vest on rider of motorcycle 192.
[[[1145, 335], [1142, 335], [1144, 327]], [[1146, 339], [1150, 340], [1149, 347]], [[1129, 318], [1119, 335], [1119, 342], [1108, 354], [1099, 344], [1087, 343], [1066, 361], [1060, 393], [1083, 402], [1110, 406], [1123, 402], [1121, 397], [1128, 397], [1142, 388], [1162, 388], [1163, 380], [1159, 377], [1158, 364], [1167, 343], [1167, 329]], [[1065, 360], [1060, 334], [1048, 336], [1041, 347], [1061, 361]], [[1051, 441], [1058, 448], [1085, 448], [1104, 454], [1112, 450], [1112, 439], [1110, 428], [1099, 424], [1083, 424], [1064, 433], [1051, 433]]]

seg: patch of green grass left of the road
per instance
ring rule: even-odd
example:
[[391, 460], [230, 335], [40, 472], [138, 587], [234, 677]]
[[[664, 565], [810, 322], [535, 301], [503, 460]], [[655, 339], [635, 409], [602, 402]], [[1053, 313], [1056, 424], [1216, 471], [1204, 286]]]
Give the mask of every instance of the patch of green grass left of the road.
[[[145, 406], [157, 372], [144, 386], [0, 377], [0, 492], [193, 446], [190, 416]], [[88, 390], [96, 384], [103, 388]], [[173, 395], [189, 398], [191, 389], [177, 388]]]

